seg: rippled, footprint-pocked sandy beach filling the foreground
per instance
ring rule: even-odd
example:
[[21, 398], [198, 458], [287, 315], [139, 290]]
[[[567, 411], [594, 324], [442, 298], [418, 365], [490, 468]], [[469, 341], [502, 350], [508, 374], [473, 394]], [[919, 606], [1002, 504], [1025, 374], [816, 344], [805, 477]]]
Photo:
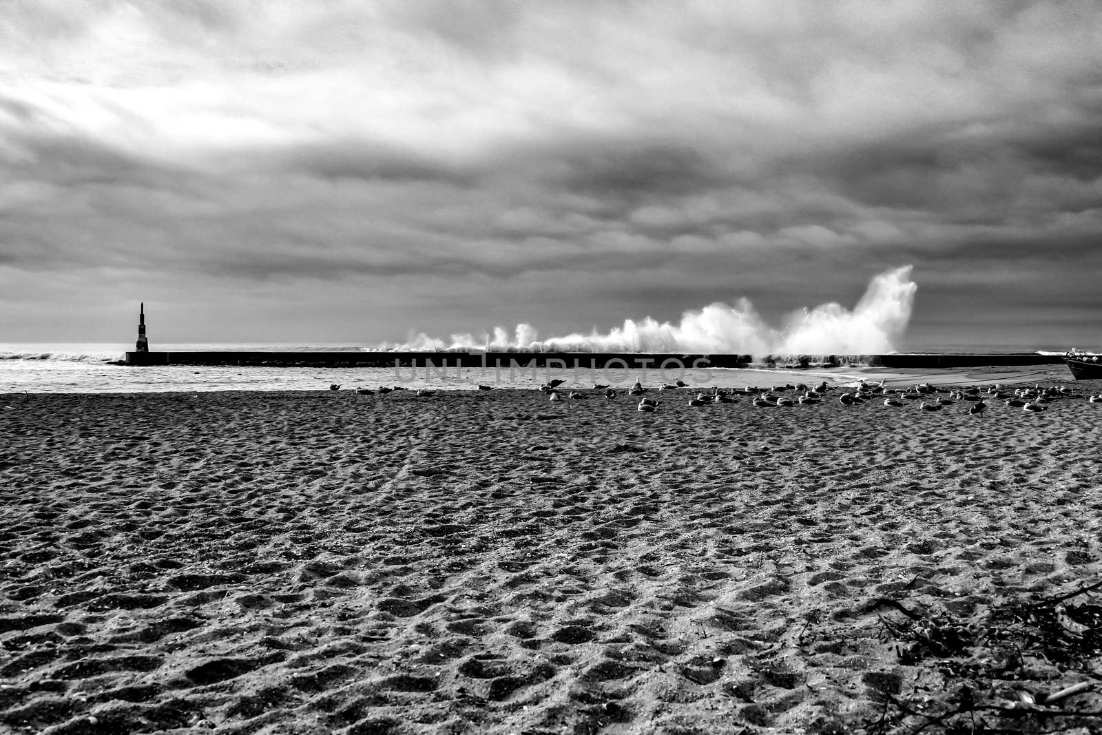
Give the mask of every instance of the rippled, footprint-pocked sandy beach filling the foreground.
[[1100, 591], [1059, 598], [1100, 580], [1102, 403], [1069, 389], [32, 396], [0, 729], [1099, 732]]

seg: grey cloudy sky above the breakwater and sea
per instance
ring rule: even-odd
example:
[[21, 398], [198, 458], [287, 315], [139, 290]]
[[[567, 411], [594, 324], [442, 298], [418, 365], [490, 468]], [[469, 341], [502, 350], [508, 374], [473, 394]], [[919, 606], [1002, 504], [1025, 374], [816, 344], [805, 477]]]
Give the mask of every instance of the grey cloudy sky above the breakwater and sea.
[[1102, 4], [44, 2], [0, 15], [0, 342], [781, 323], [1102, 347]]

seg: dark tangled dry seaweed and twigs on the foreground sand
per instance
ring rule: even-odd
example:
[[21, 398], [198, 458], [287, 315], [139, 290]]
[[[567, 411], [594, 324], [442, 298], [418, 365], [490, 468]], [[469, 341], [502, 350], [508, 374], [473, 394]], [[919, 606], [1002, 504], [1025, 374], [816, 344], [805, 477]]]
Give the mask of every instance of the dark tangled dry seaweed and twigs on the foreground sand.
[[[1102, 731], [1102, 605], [1070, 601], [1102, 582], [1041, 601], [1004, 599], [962, 617], [906, 614], [880, 624], [907, 694], [885, 689], [869, 733], [1060, 733]], [[886, 605], [888, 606], [888, 605]]]

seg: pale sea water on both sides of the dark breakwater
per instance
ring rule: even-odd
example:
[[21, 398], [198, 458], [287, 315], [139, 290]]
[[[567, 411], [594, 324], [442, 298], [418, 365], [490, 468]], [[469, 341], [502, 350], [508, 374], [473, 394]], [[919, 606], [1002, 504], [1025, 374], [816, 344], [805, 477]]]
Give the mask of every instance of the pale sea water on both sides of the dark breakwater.
[[[0, 394], [21, 391], [64, 393], [133, 393], [212, 390], [327, 390], [331, 385], [344, 389], [402, 386], [474, 390], [479, 383], [497, 388], [534, 388], [551, 378], [566, 380], [566, 386], [588, 388], [595, 382], [628, 386], [640, 380], [648, 386], [682, 379], [692, 386], [743, 387], [784, 385], [786, 382], [852, 382], [862, 377], [860, 366], [807, 370], [784, 369], [676, 369], [665, 375], [658, 370], [590, 370], [579, 368], [512, 370], [501, 368], [317, 368], [244, 366], [149, 366], [109, 365], [121, 360], [130, 344], [2, 344], [0, 343]], [[156, 352], [360, 352], [354, 345], [279, 344], [158, 344]], [[1023, 353], [1018, 348], [968, 350], [947, 346], [942, 354], [981, 352], [983, 354]], [[1038, 350], [1041, 352], [1041, 350]], [[1058, 350], [1062, 354], [1062, 350]], [[858, 368], [858, 369], [854, 369]]]

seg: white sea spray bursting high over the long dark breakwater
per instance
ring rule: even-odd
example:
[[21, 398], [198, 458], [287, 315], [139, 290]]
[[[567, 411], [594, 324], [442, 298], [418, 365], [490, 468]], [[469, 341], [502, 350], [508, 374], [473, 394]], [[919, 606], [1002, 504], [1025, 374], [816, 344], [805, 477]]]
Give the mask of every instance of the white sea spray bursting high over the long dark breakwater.
[[525, 352], [597, 352], [666, 354], [886, 354], [895, 352], [903, 336], [918, 287], [911, 267], [880, 273], [850, 311], [838, 303], [804, 309], [786, 320], [786, 328], [770, 327], [746, 299], [735, 306], [714, 303], [682, 314], [681, 322], [658, 322], [649, 316], [626, 320], [607, 334], [569, 334], [538, 339], [536, 329], [518, 324], [510, 336], [504, 327], [482, 338], [454, 334], [451, 342], [421, 333], [411, 335], [398, 350], [487, 349]]

